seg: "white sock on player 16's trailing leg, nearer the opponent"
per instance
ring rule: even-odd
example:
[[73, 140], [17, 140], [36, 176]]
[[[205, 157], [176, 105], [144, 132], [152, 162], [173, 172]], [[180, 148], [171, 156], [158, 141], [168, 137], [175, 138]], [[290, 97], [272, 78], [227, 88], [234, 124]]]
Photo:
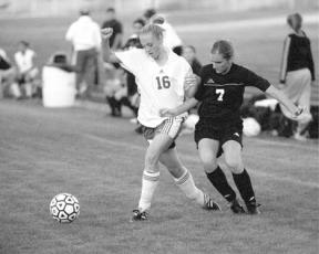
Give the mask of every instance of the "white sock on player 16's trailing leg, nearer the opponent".
[[185, 169], [185, 172], [181, 178], [175, 178], [174, 180], [176, 186], [185, 193], [188, 199], [194, 200], [200, 207], [204, 205], [204, 193], [195, 186], [193, 177], [187, 169]]

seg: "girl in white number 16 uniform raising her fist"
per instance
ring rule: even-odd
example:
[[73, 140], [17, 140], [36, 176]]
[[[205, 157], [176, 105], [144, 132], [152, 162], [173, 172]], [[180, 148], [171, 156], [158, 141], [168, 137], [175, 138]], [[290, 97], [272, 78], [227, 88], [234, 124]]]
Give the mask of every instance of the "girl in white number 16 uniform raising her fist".
[[220, 210], [212, 198], [199, 190], [191, 172], [181, 162], [175, 139], [186, 117], [161, 117], [164, 107], [182, 105], [185, 96], [195, 93], [196, 78], [185, 59], [176, 55], [163, 45], [164, 30], [156, 24], [147, 24], [140, 32], [144, 49], [132, 49], [123, 52], [112, 52], [110, 38], [113, 30], [102, 30], [103, 52], [106, 61], [120, 63], [136, 77], [141, 93], [138, 121], [144, 126], [144, 137], [150, 146], [144, 160], [142, 192], [136, 210], [133, 210], [132, 221], [148, 219], [152, 198], [160, 180], [160, 162], [173, 176], [176, 186], [187, 198], [207, 210]]

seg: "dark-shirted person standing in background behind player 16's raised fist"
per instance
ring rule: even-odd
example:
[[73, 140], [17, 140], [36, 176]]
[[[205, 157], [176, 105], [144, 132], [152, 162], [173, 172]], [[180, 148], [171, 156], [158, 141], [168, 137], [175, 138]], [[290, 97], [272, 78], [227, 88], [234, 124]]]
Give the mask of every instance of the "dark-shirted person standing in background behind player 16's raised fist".
[[111, 49], [113, 51], [120, 50], [122, 47], [123, 27], [122, 23], [116, 19], [114, 8], [109, 8], [106, 10], [106, 20], [102, 24], [102, 29], [105, 28], [113, 29], [113, 34], [110, 38]]

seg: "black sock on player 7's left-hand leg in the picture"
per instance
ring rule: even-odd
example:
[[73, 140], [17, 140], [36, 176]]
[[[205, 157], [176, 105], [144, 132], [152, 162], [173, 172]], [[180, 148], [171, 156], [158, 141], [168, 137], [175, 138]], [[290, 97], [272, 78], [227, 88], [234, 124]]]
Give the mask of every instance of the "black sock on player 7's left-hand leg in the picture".
[[228, 201], [231, 202], [236, 199], [236, 193], [227, 182], [226, 176], [223, 170], [217, 167], [212, 173], [206, 172], [207, 178], [216, 190]]

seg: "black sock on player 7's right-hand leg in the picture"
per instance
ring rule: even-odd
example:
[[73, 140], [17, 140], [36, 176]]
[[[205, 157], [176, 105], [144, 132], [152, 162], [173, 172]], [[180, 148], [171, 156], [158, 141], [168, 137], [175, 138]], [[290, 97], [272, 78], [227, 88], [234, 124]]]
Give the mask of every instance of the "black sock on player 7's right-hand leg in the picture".
[[246, 169], [241, 173], [233, 173], [233, 178], [245, 203], [256, 203], [250, 177]]

